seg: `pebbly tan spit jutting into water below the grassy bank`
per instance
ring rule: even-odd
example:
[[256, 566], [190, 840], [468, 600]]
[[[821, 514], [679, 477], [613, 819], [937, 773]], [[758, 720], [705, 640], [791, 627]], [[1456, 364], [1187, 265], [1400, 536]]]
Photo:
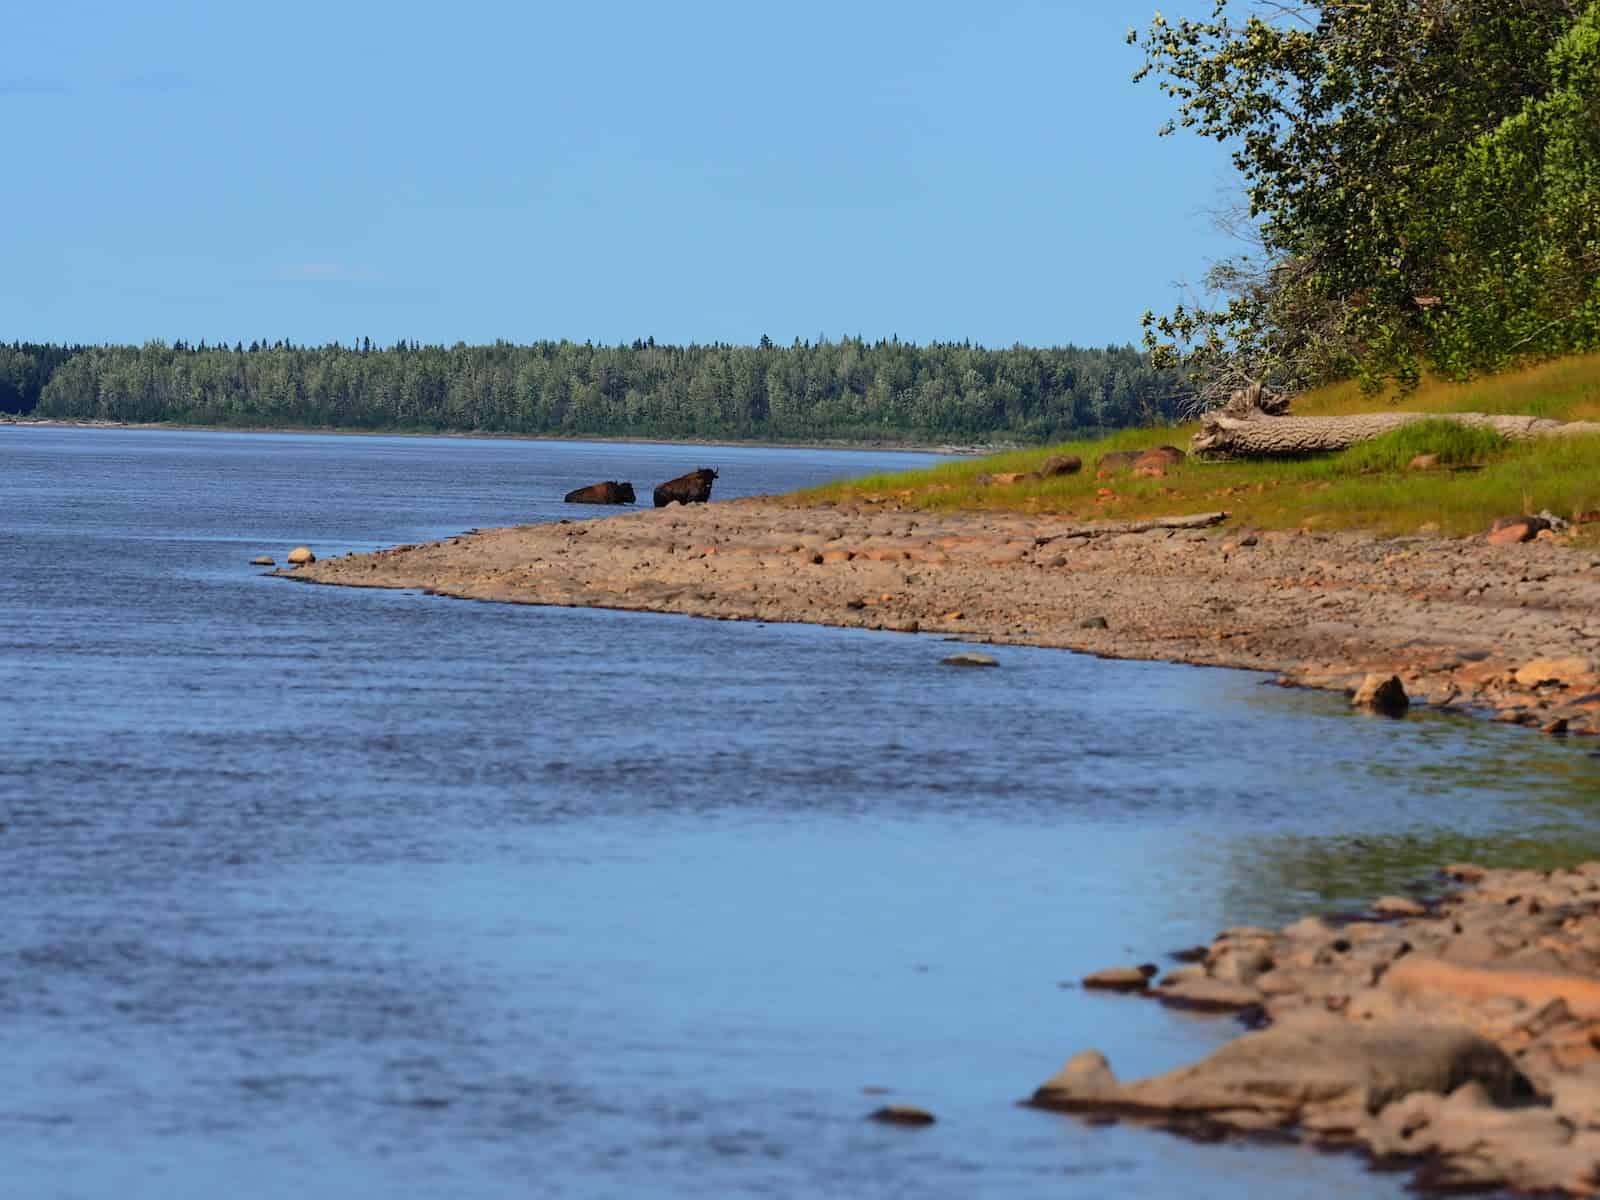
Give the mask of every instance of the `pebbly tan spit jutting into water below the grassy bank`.
[[800, 621], [1246, 667], [1600, 733], [1600, 557], [1360, 533], [1104, 534], [1064, 518], [747, 499], [480, 530], [294, 578]]

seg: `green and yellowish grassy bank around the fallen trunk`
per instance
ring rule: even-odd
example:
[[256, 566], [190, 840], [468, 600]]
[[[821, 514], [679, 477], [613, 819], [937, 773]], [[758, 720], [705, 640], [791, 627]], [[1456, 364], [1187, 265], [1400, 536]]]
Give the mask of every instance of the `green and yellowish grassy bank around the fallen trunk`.
[[[1528, 413], [1558, 421], [1600, 419], [1600, 355], [1566, 358], [1469, 384], [1430, 381], [1405, 397], [1362, 395], [1338, 384], [1301, 397], [1294, 413], [1363, 411]], [[1123, 430], [928, 470], [875, 475], [803, 493], [803, 501], [861, 499], [910, 509], [1003, 509], [1085, 520], [1227, 509], [1259, 528], [1370, 528], [1482, 533], [1496, 517], [1549, 509], [1558, 515], [1600, 509], [1600, 438], [1506, 443], [1450, 422], [1421, 422], [1338, 454], [1296, 461], [1197, 462], [1160, 478], [1122, 470], [1098, 478], [1094, 461], [1114, 450], [1173, 445], [1187, 450], [1198, 426]], [[989, 485], [981, 474], [1030, 472], [1050, 454], [1077, 454], [1085, 469], [1051, 480]], [[1418, 454], [1440, 466], [1411, 470]], [[1594, 528], [1594, 526], [1590, 526]]]

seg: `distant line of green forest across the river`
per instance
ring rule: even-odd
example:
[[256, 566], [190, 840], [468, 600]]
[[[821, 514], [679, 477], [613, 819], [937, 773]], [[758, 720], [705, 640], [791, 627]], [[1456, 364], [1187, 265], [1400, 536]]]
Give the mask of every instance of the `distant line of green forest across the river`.
[[0, 408], [61, 419], [1045, 442], [1179, 406], [1176, 373], [1133, 346], [0, 346]]

